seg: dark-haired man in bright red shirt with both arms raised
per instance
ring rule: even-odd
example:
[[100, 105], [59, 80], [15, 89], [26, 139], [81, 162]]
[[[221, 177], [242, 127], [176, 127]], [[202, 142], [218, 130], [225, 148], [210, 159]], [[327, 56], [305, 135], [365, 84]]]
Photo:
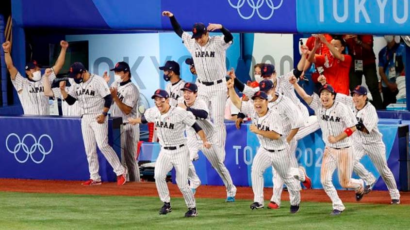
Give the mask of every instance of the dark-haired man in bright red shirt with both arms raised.
[[[321, 42], [328, 47], [330, 51], [328, 54], [315, 54]], [[344, 49], [343, 38], [335, 36], [329, 43], [323, 34], [319, 34], [308, 60], [315, 63], [317, 67], [323, 67], [323, 75], [327, 77], [328, 83], [333, 86], [335, 92], [349, 95], [349, 71], [352, 57], [344, 54]]]

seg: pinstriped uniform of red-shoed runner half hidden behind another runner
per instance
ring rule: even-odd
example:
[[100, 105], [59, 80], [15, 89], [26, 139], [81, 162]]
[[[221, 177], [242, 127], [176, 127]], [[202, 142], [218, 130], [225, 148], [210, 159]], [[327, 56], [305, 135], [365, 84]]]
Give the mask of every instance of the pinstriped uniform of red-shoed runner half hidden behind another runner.
[[[283, 125], [283, 136], [286, 138], [292, 129], [300, 128], [304, 125], [299, 110], [288, 97], [277, 93], [278, 98], [268, 104], [269, 108], [279, 113], [281, 123]], [[289, 157], [291, 159], [291, 167], [294, 168], [297, 173], [297, 179], [301, 182], [305, 181], [305, 173], [302, 169], [298, 169], [298, 163], [295, 155], [297, 140], [295, 138], [289, 144]], [[276, 170], [273, 171], [273, 195], [271, 201], [277, 203], [280, 206], [280, 197], [283, 190], [283, 180], [278, 175]], [[300, 185], [300, 184], [299, 184]]]

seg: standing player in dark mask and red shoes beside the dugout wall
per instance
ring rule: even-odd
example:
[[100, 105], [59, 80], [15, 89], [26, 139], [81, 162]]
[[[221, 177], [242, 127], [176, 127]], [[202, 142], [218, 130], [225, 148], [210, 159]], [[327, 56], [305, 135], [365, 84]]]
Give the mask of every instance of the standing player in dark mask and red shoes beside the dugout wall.
[[102, 77], [88, 73], [81, 62], [74, 62], [70, 66], [68, 77], [74, 79], [74, 84], [71, 85], [70, 91], [67, 93], [66, 81], [61, 81], [61, 95], [68, 105], [78, 101], [82, 108], [81, 131], [90, 171], [90, 179], [82, 185], [101, 184], [96, 142], [99, 150], [117, 175], [117, 185], [125, 184], [127, 169], [122, 167], [113, 148], [108, 145], [108, 121], [106, 117], [112, 104], [112, 97], [107, 83]]

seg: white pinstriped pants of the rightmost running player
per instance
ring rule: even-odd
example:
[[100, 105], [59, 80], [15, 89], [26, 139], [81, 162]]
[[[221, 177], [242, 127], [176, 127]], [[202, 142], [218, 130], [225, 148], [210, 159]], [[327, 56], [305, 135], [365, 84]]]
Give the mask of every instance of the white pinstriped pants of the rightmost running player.
[[397, 189], [397, 184], [394, 179], [392, 171], [387, 166], [386, 161], [386, 146], [383, 142], [372, 143], [371, 145], [366, 144], [355, 144], [355, 164], [353, 170], [356, 174], [363, 179], [366, 184], [373, 184], [376, 182], [376, 178], [371, 172], [364, 168], [360, 163], [361, 158], [364, 154], [368, 154], [370, 160], [376, 166], [377, 171], [380, 173], [387, 188], [389, 189], [390, 197], [392, 199], [400, 199], [400, 193]]

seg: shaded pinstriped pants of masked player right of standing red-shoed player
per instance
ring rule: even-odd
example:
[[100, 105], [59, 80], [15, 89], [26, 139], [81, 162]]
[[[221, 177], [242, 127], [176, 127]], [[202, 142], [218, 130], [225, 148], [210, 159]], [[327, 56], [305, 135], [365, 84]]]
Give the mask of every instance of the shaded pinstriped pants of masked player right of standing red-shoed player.
[[140, 171], [138, 162], [135, 159], [137, 153], [137, 143], [140, 139], [139, 125], [124, 125], [124, 161], [123, 165], [128, 169], [130, 181], [140, 181]]

